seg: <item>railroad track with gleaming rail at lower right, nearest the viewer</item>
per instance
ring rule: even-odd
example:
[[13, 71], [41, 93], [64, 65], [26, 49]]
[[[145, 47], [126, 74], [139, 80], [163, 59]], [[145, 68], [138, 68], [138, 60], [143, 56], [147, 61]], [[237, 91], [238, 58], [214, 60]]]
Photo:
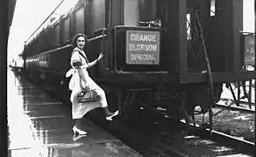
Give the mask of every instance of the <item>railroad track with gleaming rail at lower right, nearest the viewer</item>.
[[[150, 109], [149, 107], [146, 107], [147, 109]], [[153, 109], [150, 109], [151, 111], [155, 112]], [[157, 112], [164, 117], [167, 117], [166, 113]], [[172, 124], [174, 123], [173, 120], [165, 118], [164, 123]], [[185, 128], [186, 124], [184, 121], [181, 120], [181, 124], [178, 124], [181, 126], [181, 128]], [[234, 154], [247, 154], [248, 156], [254, 156], [254, 143], [247, 141], [247, 140], [241, 140], [236, 137], [232, 137], [225, 133], [220, 133], [217, 131], [212, 131], [210, 133], [209, 129], [200, 129], [200, 126], [196, 125], [193, 126], [190, 124], [189, 130], [193, 130], [193, 132], [189, 133], [187, 136], [184, 136], [184, 139], [187, 141], [195, 140], [197, 144], [200, 144], [200, 147], [204, 147], [203, 150], [191, 150], [191, 154], [195, 154], [195, 152], [199, 156], [208, 156], [207, 154], [200, 153], [201, 151], [207, 151], [212, 152], [210, 156], [218, 156], [218, 155], [234, 155]], [[195, 143], [192, 145], [196, 145]], [[198, 145], [197, 145], [198, 146]], [[223, 148], [223, 150], [219, 150], [216, 152], [218, 148]], [[179, 149], [179, 148], [178, 148]], [[192, 148], [193, 149], [193, 148]], [[189, 152], [189, 151], [188, 151]], [[193, 156], [189, 154], [188, 152], [185, 152], [184, 154], [187, 154], [189, 156]]]

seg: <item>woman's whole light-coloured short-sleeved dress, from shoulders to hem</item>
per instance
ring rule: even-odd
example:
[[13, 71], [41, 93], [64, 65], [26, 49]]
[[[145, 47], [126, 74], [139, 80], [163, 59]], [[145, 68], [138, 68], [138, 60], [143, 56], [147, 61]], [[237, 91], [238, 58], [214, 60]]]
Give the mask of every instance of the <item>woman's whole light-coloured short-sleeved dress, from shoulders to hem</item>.
[[[82, 57], [79, 51], [84, 55], [85, 58]], [[73, 66], [73, 63], [77, 61], [82, 62], [82, 66], [80, 67], [81, 70]], [[92, 80], [92, 78], [89, 77], [89, 73], [87, 72], [88, 64], [89, 64], [89, 61], [84, 51], [81, 51], [76, 47], [72, 52], [71, 60], [70, 60], [70, 65], [72, 66], [72, 68], [66, 73], [67, 78], [72, 75], [68, 88], [72, 91], [70, 95], [70, 100], [72, 102], [72, 118], [73, 119], [81, 119], [86, 113], [88, 113], [89, 111], [97, 107], [108, 106], [105, 92], [99, 85], [96, 85], [96, 83], [94, 82], [94, 80]], [[84, 81], [80, 77], [79, 72], [83, 72], [83, 76], [86, 81]], [[80, 92], [82, 92], [81, 83], [82, 83], [82, 86], [89, 86], [90, 89], [94, 89], [100, 97], [99, 101], [78, 103], [77, 95]]]

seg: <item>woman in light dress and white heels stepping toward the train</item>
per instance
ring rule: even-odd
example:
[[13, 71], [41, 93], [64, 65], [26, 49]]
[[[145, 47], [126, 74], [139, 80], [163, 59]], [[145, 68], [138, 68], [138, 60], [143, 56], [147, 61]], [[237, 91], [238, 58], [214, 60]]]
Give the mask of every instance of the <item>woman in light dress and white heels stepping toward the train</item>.
[[[87, 134], [87, 132], [82, 131], [81, 119], [89, 111], [102, 107], [107, 120], [111, 120], [112, 117], [118, 114], [118, 111], [110, 113], [103, 89], [99, 85], [96, 85], [95, 81], [89, 77], [89, 72], [87, 71], [88, 68], [93, 67], [101, 58], [103, 58], [103, 54], [101, 53], [96, 60], [89, 63], [89, 60], [83, 51], [86, 44], [87, 37], [84, 34], [75, 35], [75, 38], [73, 39], [75, 48], [70, 59], [72, 68], [66, 73], [67, 78], [72, 75], [68, 87], [72, 91], [70, 95], [70, 100], [72, 102], [72, 119], [75, 119], [73, 131], [78, 134]], [[96, 92], [99, 99], [97, 101], [79, 102], [77, 96], [84, 88]]]

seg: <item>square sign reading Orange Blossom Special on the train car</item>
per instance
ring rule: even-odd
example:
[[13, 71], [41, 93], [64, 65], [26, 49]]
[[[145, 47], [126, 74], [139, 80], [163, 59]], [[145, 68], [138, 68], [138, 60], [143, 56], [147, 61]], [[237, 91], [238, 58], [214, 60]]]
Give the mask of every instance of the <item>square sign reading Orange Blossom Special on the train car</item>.
[[127, 31], [126, 37], [126, 64], [160, 64], [159, 31]]

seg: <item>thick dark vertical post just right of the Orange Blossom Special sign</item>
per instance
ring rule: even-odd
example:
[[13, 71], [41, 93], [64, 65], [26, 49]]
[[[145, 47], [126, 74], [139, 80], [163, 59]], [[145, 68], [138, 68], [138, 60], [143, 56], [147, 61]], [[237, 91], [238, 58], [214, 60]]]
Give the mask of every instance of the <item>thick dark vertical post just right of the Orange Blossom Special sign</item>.
[[170, 52], [175, 58], [175, 65], [179, 65], [179, 69], [175, 69], [184, 77], [188, 69], [187, 54], [187, 31], [186, 31], [186, 12], [187, 0], [171, 0], [167, 3], [168, 22], [167, 28], [170, 31]]

